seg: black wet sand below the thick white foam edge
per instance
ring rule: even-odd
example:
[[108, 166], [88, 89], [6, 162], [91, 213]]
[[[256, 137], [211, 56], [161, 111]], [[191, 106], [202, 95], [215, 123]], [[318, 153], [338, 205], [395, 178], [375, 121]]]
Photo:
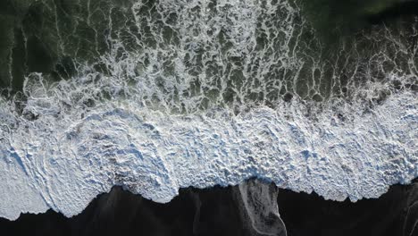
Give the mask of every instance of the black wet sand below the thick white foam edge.
[[[2, 235], [256, 235], [241, 216], [238, 187], [180, 190], [158, 204], [115, 187], [70, 219], [49, 210], [0, 219]], [[418, 235], [418, 181], [396, 185], [378, 199], [356, 203], [280, 190], [288, 235]]]

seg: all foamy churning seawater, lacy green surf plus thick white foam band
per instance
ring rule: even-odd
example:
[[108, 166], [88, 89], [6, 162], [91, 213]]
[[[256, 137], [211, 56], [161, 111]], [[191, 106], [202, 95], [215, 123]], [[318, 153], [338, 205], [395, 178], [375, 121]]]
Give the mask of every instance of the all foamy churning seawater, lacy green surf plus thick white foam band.
[[113, 185], [168, 202], [257, 177], [357, 200], [418, 176], [414, 17], [336, 38], [303, 1], [27, 7], [14, 40], [59, 63], [26, 55], [17, 93], [18, 46], [6, 63], [0, 216], [76, 215]]

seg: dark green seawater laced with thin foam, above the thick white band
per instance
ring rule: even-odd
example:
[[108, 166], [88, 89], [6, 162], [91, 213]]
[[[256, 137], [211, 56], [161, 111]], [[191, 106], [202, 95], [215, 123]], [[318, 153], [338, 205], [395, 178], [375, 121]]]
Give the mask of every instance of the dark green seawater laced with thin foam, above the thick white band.
[[[196, 4], [187, 16], [180, 15], [174, 5], [163, 9], [158, 1], [6, 0], [0, 4], [0, 86], [4, 96], [13, 95], [21, 91], [31, 72], [43, 73], [51, 83], [71, 80], [79, 76], [77, 68], [83, 64], [112, 76], [112, 68], [101, 62], [101, 56], [113, 54], [116, 60], [123, 60], [137, 54], [138, 68], [154, 67], [162, 72], [152, 80], [163, 93], [171, 90], [166, 85], [171, 80], [168, 77], [184, 77], [186, 72], [188, 80], [180, 83], [188, 83], [188, 89], [174, 89], [171, 101], [165, 101], [169, 106], [177, 104], [172, 108], [175, 112], [195, 109], [179, 103], [192, 97], [199, 97], [196, 106], [204, 109], [248, 102], [274, 105], [280, 98], [295, 96], [315, 101], [353, 97], [364, 80], [385, 80], [389, 72], [410, 71], [408, 61], [416, 63], [416, 58], [391, 39], [414, 50], [414, 15], [369, 21], [401, 2], [297, 0], [288, 1], [288, 7], [298, 13], [289, 13], [283, 1], [255, 1], [263, 10], [255, 19], [254, 32], [243, 36], [232, 31], [239, 28], [234, 22], [209, 21], [234, 14], [228, 5], [215, 0]], [[269, 9], [274, 5], [279, 7]], [[184, 17], [197, 21], [190, 24]], [[238, 21], [246, 21], [244, 18]], [[191, 31], [184, 34], [184, 25]], [[196, 44], [190, 44], [193, 35], [200, 38]], [[158, 52], [149, 54], [147, 50]], [[184, 54], [184, 50], [193, 54]], [[213, 50], [219, 55], [213, 55]], [[379, 56], [382, 58], [370, 60]], [[162, 63], [153, 65], [155, 60]], [[186, 71], [172, 63], [176, 60], [182, 61]], [[136, 83], [130, 75], [126, 80]], [[392, 82], [397, 88], [416, 89], [414, 81]], [[389, 94], [389, 90], [379, 91], [375, 97], [380, 100]], [[104, 92], [102, 97], [112, 95]], [[160, 103], [161, 99], [148, 95], [146, 103]]]

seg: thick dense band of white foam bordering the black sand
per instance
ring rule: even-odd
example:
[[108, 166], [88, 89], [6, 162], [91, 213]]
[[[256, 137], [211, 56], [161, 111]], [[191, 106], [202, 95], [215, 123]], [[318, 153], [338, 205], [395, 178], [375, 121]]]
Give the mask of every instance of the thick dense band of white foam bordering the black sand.
[[115, 184], [168, 202], [183, 187], [250, 177], [327, 199], [377, 198], [418, 176], [417, 105], [416, 95], [405, 92], [371, 114], [346, 108], [346, 122], [330, 110], [313, 122], [297, 103], [210, 118], [129, 101], [108, 102], [84, 118], [21, 119], [15, 131], [1, 133], [0, 215], [15, 219], [48, 207], [76, 215]]

